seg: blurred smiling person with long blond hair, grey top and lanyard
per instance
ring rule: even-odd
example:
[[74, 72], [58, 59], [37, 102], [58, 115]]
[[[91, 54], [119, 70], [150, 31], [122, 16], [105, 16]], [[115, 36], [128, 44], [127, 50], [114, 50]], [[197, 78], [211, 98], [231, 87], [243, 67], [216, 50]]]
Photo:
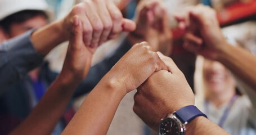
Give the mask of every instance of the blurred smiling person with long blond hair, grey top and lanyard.
[[[203, 98], [196, 96], [195, 105], [208, 116], [209, 120], [228, 133], [255, 134], [255, 93], [252, 93], [254, 96], [248, 96], [251, 90], [239, 87], [243, 93], [240, 95], [237, 93], [236, 80], [224, 65], [218, 61], [201, 59], [202, 77], [195, 79], [203, 82], [203, 91], [196, 93], [200, 95], [200, 92], [203, 92], [204, 96]], [[200, 68], [198, 62], [196, 68]]]

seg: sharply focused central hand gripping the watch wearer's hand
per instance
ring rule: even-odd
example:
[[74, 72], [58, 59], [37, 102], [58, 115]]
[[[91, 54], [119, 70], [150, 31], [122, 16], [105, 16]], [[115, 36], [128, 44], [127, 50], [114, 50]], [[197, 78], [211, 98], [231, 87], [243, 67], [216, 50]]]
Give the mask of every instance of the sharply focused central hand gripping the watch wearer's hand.
[[125, 94], [140, 86], [155, 71], [168, 70], [167, 65], [148, 43], [135, 44], [107, 73], [125, 90]]

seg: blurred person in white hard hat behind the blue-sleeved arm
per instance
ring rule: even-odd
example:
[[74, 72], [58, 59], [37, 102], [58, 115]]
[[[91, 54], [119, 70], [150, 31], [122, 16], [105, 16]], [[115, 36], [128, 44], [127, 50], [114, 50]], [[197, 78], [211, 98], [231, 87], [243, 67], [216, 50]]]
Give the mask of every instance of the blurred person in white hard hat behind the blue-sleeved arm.
[[[48, 24], [50, 10], [45, 1], [1, 1], [0, 35], [1, 42], [17, 37], [31, 29]], [[41, 100], [57, 73], [44, 62], [42, 69], [30, 71], [28, 77], [16, 83], [1, 95], [1, 131], [11, 130]], [[11, 120], [11, 122], [8, 122]]]

